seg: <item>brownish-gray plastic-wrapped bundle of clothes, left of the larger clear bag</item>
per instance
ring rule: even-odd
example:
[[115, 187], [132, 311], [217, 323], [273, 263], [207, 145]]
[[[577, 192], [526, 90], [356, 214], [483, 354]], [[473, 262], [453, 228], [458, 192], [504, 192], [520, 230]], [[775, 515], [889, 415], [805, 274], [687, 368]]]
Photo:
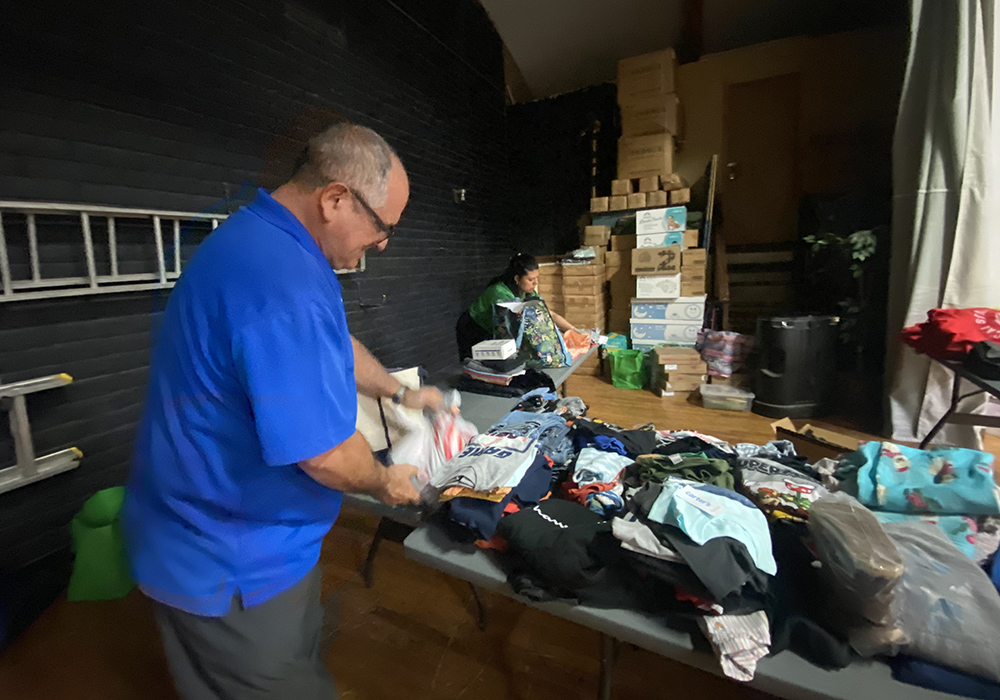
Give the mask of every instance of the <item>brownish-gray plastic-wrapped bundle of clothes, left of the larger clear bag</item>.
[[808, 525], [843, 625], [891, 625], [903, 560], [875, 514], [838, 492], [812, 504]]

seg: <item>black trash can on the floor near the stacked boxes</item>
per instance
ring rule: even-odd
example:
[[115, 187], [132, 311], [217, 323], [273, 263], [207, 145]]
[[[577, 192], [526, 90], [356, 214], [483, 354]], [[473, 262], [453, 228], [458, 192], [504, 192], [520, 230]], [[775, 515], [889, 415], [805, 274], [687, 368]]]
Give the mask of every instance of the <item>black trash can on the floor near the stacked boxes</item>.
[[836, 316], [757, 319], [754, 413], [814, 418], [830, 406], [837, 371]]

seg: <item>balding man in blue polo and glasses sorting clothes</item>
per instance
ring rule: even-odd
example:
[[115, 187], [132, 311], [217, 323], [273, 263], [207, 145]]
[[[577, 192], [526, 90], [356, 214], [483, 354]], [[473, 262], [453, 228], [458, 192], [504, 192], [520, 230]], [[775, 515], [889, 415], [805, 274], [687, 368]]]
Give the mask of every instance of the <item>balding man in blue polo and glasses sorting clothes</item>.
[[378, 134], [333, 126], [291, 181], [199, 246], [171, 293], [124, 517], [185, 700], [335, 696], [317, 562], [341, 493], [418, 498], [416, 468], [377, 464], [355, 430], [357, 392], [443, 406], [350, 336], [333, 272], [384, 249], [408, 197]]

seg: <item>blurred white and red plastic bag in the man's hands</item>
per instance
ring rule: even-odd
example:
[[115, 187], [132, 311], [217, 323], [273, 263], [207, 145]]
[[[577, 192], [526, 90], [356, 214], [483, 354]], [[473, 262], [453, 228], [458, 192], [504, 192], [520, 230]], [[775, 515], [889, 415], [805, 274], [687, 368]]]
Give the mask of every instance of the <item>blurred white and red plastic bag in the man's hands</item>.
[[392, 446], [389, 456], [395, 464], [412, 464], [419, 470], [417, 489], [427, 486], [434, 472], [479, 434], [476, 426], [450, 412], [406, 420], [409, 432]]

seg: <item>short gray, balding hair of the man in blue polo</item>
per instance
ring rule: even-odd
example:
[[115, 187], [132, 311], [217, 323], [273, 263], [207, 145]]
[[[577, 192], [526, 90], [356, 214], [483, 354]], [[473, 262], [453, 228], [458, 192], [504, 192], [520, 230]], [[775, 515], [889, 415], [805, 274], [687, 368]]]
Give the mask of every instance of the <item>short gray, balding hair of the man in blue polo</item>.
[[385, 204], [396, 152], [381, 136], [357, 124], [334, 124], [309, 139], [304, 162], [292, 182], [316, 189], [342, 182], [372, 207]]

